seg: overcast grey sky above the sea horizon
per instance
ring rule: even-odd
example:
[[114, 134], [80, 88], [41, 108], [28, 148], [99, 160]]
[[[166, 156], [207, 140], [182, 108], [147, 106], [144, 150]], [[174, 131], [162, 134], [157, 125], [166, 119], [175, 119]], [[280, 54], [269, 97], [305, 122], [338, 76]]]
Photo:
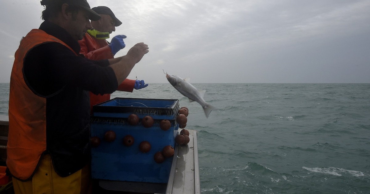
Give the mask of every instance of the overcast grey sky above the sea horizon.
[[[370, 0], [88, 0], [108, 6], [149, 53], [129, 79], [166, 83], [370, 83]], [[40, 0], [0, 7], [0, 82], [21, 37], [42, 23]], [[110, 40], [108, 39], [108, 40]]]

